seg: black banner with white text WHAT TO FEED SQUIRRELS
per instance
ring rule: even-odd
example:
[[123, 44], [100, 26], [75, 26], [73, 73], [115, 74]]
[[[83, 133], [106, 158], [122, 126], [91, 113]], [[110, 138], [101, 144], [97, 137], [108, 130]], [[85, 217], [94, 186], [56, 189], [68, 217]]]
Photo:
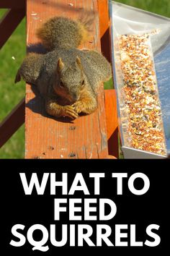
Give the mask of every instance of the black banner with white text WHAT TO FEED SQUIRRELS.
[[163, 252], [169, 163], [1, 160], [4, 255]]

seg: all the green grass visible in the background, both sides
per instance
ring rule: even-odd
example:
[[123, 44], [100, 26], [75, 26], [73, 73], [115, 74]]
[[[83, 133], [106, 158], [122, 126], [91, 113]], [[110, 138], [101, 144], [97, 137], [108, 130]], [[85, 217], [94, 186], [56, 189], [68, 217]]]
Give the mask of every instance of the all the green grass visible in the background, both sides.
[[[117, 0], [122, 4], [155, 12], [170, 17], [169, 0]], [[0, 19], [5, 10], [0, 10]], [[0, 51], [0, 121], [9, 114], [14, 106], [24, 97], [24, 82], [14, 85], [14, 78], [19, 65], [25, 56], [25, 19], [5, 46]], [[12, 59], [14, 56], [15, 59]], [[112, 80], [104, 84], [105, 89], [112, 88]], [[6, 144], [0, 149], [0, 158], [23, 158], [24, 157], [24, 126], [22, 126]]]

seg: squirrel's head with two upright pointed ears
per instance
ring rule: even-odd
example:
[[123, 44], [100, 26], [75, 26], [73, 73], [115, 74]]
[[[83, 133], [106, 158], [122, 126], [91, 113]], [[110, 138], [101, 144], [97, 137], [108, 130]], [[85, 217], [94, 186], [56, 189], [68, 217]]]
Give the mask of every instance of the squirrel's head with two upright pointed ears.
[[86, 86], [86, 77], [81, 66], [81, 60], [76, 60], [66, 67], [62, 59], [58, 59], [57, 75], [53, 86], [55, 93], [66, 98], [70, 103], [79, 101], [82, 90]]

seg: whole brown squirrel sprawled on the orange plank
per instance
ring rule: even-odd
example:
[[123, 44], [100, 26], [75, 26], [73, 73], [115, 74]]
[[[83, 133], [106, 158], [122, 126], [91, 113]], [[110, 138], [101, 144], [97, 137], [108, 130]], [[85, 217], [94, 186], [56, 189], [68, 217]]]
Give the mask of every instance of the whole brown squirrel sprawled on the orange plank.
[[15, 82], [22, 78], [36, 85], [50, 116], [76, 119], [81, 112], [97, 109], [99, 84], [109, 80], [112, 72], [102, 54], [78, 49], [88, 35], [88, 22], [51, 18], [37, 30], [48, 52], [28, 54], [17, 72]]

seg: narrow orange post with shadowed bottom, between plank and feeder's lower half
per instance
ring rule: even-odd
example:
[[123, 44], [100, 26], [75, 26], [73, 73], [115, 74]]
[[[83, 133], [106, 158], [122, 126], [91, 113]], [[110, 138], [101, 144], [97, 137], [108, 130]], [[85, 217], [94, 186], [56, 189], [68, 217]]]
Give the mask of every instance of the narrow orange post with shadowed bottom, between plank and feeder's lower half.
[[116, 158], [118, 158], [118, 119], [115, 90], [104, 90], [104, 97], [109, 155], [114, 155]]

